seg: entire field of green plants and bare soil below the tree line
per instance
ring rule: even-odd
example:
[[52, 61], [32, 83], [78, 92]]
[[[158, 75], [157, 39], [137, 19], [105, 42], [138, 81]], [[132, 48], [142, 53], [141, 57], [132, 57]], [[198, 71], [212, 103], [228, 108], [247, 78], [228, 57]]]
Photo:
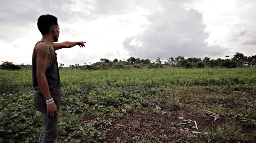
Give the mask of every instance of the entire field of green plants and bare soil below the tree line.
[[[0, 74], [0, 142], [36, 142], [31, 71]], [[57, 142], [256, 142], [256, 68], [64, 68], [60, 80]]]

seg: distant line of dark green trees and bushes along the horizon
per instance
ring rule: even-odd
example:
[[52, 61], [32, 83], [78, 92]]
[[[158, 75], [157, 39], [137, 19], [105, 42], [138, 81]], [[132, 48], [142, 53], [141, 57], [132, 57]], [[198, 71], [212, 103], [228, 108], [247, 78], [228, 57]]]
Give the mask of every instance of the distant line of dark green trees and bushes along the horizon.
[[[229, 59], [211, 59], [210, 57], [196, 58], [190, 57], [185, 59], [184, 56], [178, 56], [176, 58], [170, 57], [164, 63], [160, 60], [160, 57], [156, 61], [150, 61], [149, 59], [140, 59], [135, 57], [130, 57], [126, 61], [114, 59], [113, 61], [101, 58], [100, 61], [91, 64], [84, 63], [84, 65], [69, 65], [72, 69], [82, 69], [82, 70], [104, 70], [104, 69], [131, 69], [133, 68], [163, 68], [163, 67], [179, 67], [179, 68], [236, 68], [236, 67], [255, 67], [256, 66], [256, 55], [244, 56], [244, 54], [236, 52], [233, 58]], [[59, 68], [63, 68], [64, 64], [59, 63]], [[31, 69], [31, 65], [14, 65], [12, 62], [3, 61], [0, 65], [2, 70], [22, 70]]]

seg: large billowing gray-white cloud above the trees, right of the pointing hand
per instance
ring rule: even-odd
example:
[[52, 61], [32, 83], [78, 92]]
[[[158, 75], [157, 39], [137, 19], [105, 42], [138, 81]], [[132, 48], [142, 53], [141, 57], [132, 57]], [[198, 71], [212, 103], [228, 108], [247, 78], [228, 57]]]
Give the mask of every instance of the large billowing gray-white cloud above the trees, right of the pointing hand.
[[[124, 39], [123, 46], [130, 56], [148, 59], [161, 56], [162, 59], [168, 59], [180, 55], [223, 56], [227, 52], [227, 48], [209, 46], [205, 42], [209, 33], [204, 30], [206, 25], [203, 23], [202, 13], [195, 9], [186, 11], [176, 5], [163, 7], [162, 12], [147, 16], [151, 24], [144, 32]], [[138, 44], [131, 44], [134, 39]]]

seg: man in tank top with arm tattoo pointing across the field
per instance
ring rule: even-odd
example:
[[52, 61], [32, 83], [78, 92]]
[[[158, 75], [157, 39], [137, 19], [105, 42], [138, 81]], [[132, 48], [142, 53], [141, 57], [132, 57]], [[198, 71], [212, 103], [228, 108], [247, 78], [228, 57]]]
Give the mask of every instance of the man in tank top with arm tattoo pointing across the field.
[[58, 134], [61, 103], [60, 75], [55, 51], [76, 45], [84, 47], [85, 42], [54, 43], [58, 41], [60, 28], [57, 18], [52, 15], [40, 16], [37, 27], [43, 37], [33, 50], [32, 80], [36, 90], [35, 108], [43, 115], [39, 143], [53, 143]]

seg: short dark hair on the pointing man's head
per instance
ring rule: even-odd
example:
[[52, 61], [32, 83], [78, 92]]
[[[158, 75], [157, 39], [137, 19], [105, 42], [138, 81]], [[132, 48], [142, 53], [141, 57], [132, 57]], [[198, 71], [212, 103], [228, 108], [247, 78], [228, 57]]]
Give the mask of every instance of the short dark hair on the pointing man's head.
[[53, 25], [58, 25], [58, 19], [50, 14], [41, 15], [37, 20], [37, 27], [42, 35], [49, 33]]

